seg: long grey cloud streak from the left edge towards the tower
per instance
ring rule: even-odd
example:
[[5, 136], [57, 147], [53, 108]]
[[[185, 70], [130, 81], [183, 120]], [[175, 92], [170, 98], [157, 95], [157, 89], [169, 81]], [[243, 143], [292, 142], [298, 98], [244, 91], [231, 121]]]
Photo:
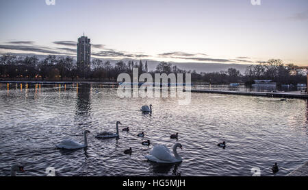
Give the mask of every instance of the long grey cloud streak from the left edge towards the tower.
[[38, 46], [29, 46], [29, 45], [0, 45], [0, 49], [31, 51], [34, 53], [44, 53], [44, 54], [68, 55], [66, 53], [63, 53], [62, 51], [56, 51], [55, 49], [51, 49], [49, 47], [38, 47]]

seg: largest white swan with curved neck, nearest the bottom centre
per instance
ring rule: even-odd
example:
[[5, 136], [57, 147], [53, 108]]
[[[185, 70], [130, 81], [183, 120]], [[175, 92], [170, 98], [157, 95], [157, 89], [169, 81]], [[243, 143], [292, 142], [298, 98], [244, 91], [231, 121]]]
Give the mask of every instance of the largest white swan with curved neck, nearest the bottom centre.
[[182, 145], [180, 143], [173, 145], [172, 150], [175, 156], [172, 156], [170, 150], [165, 145], [155, 145], [153, 150], [151, 150], [150, 155], [146, 155], [144, 157], [155, 163], [181, 163], [182, 158], [179, 154], [177, 154], [177, 147], [182, 149]]

